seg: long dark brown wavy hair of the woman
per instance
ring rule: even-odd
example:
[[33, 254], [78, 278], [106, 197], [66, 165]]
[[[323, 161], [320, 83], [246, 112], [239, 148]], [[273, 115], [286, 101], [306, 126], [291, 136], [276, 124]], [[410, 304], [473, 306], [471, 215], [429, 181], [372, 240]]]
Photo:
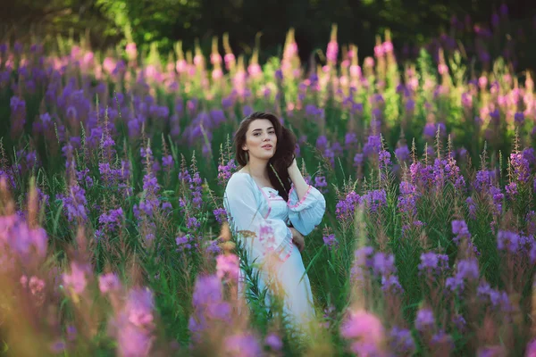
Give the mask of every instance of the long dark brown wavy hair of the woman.
[[[268, 178], [272, 187], [279, 191], [281, 197], [285, 201], [289, 201], [289, 191], [291, 180], [289, 178], [289, 166], [294, 161], [294, 151], [296, 150], [296, 136], [292, 131], [283, 127], [280, 120], [270, 112], [253, 112], [240, 122], [239, 129], [234, 136], [235, 160], [240, 166], [244, 167], [247, 164], [246, 152], [242, 150], [242, 145], [246, 142], [246, 133], [249, 124], [258, 119], [270, 120], [275, 129], [277, 137], [277, 145], [275, 154], [268, 162]], [[275, 170], [273, 170], [272, 169]], [[279, 179], [278, 179], [279, 177]], [[281, 181], [280, 181], [281, 179]], [[282, 186], [281, 186], [282, 182]]]

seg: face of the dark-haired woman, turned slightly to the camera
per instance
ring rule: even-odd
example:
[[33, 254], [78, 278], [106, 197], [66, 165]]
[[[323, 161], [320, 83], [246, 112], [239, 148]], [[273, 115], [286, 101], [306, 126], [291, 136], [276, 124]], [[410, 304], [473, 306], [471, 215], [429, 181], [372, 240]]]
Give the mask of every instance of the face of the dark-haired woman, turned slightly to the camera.
[[275, 154], [277, 136], [272, 121], [257, 119], [249, 123], [246, 133], [246, 143], [242, 150], [246, 150], [249, 157], [270, 160]]

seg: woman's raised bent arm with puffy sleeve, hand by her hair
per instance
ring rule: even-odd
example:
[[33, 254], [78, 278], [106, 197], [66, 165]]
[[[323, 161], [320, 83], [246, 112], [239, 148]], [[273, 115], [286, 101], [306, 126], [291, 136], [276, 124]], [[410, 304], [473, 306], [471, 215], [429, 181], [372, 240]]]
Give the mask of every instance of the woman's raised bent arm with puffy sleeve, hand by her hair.
[[289, 192], [289, 220], [294, 228], [306, 236], [322, 221], [326, 210], [326, 201], [320, 191], [307, 185], [297, 168], [296, 159], [289, 167], [292, 187]]

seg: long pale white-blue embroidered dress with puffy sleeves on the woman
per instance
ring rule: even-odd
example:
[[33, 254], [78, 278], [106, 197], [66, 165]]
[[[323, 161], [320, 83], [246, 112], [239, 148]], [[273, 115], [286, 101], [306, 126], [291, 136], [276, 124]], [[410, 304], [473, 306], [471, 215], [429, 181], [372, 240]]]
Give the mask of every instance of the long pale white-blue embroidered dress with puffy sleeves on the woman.
[[[325, 212], [323, 195], [309, 186], [306, 195], [298, 200], [292, 185], [287, 203], [277, 190], [259, 187], [248, 173], [237, 172], [227, 184], [223, 204], [231, 228], [255, 233], [255, 237], [237, 236], [246, 248], [247, 261], [262, 264], [267, 253], [275, 252], [279, 260], [274, 273], [284, 291], [284, 311], [294, 323], [309, 322], [314, 318], [311, 284], [288, 224], [291, 222], [304, 236], [311, 233]], [[268, 275], [264, 270], [260, 275], [262, 291]], [[240, 271], [239, 294], [243, 294], [242, 279]]]

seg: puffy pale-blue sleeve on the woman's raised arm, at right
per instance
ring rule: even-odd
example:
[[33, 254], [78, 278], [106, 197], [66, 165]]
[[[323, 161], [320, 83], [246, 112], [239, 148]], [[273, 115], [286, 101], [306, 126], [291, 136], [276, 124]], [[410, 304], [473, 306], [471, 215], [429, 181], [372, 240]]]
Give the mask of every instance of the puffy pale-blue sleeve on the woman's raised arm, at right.
[[294, 184], [289, 191], [289, 220], [302, 235], [306, 236], [322, 221], [326, 200], [322, 193], [309, 185], [306, 195], [298, 199]]

